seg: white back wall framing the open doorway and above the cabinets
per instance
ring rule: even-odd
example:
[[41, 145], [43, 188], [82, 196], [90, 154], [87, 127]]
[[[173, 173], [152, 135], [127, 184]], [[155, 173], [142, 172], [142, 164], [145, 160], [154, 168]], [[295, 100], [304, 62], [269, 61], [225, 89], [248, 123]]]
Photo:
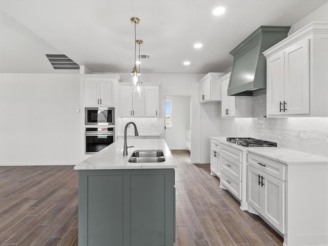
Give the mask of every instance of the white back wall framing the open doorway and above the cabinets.
[[[123, 81], [129, 81], [129, 74], [119, 74]], [[198, 80], [205, 74], [142, 74], [142, 83], [161, 83], [159, 88], [159, 133], [164, 136], [165, 96], [190, 96], [191, 98], [191, 162], [200, 162], [199, 153], [199, 102]]]

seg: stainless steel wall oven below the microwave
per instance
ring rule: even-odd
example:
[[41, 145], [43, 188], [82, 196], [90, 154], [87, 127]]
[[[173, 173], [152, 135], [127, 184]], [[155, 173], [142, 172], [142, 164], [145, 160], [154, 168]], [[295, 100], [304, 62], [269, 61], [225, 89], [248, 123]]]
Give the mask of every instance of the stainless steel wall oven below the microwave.
[[86, 154], [94, 154], [115, 141], [113, 127], [86, 128]]

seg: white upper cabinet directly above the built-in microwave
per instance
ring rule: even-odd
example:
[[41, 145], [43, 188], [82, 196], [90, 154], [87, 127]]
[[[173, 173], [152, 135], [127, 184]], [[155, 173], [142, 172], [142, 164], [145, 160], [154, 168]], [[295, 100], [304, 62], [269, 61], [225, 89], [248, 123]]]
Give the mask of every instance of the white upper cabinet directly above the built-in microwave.
[[85, 107], [115, 106], [118, 75], [83, 75]]

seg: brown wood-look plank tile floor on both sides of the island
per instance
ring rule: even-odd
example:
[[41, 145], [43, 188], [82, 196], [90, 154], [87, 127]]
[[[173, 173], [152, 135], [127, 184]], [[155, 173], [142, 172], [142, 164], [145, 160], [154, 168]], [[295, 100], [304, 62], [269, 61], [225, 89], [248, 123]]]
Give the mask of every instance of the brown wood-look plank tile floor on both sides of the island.
[[[176, 170], [174, 246], [281, 246], [261, 218], [239, 209], [209, 164], [172, 151]], [[72, 166], [0, 167], [0, 245], [77, 246], [78, 175]]]

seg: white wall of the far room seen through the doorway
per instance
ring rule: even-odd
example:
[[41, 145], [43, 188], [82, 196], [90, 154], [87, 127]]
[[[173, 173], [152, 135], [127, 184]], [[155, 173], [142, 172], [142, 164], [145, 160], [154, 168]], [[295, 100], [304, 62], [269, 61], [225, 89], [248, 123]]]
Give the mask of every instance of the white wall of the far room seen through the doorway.
[[166, 128], [165, 140], [170, 150], [186, 150], [186, 130], [190, 129], [190, 97], [166, 96], [171, 101], [172, 127]]

